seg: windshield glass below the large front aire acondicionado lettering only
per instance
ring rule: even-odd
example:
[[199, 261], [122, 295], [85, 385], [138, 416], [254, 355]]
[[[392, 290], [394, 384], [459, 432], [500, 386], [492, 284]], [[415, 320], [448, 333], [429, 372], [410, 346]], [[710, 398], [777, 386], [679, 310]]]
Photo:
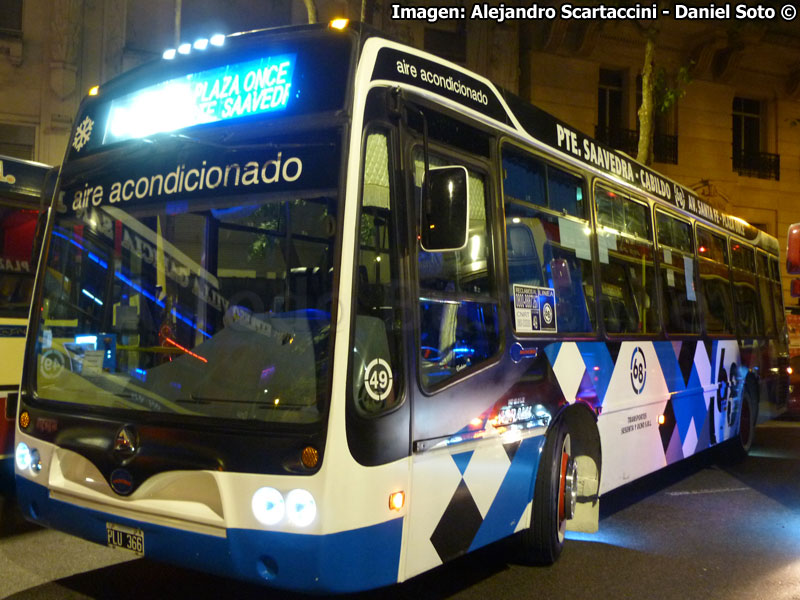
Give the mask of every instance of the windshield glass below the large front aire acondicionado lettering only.
[[319, 419], [336, 200], [287, 196], [58, 217], [39, 397], [217, 419]]

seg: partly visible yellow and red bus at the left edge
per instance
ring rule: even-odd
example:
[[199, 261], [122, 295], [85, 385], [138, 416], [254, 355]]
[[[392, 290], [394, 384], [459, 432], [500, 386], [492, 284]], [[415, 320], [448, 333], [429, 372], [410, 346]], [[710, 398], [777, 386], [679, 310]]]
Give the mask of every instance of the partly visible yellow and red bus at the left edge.
[[0, 156], [0, 488], [13, 479], [16, 400], [49, 171], [47, 165]]

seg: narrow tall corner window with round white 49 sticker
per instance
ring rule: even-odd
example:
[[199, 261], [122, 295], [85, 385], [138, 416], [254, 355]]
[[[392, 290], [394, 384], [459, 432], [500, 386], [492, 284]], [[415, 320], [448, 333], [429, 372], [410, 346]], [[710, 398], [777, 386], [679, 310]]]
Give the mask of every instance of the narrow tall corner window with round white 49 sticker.
[[397, 305], [396, 231], [389, 179], [389, 140], [367, 136], [356, 263], [355, 336], [351, 356], [356, 410], [371, 416], [400, 403], [401, 318]]

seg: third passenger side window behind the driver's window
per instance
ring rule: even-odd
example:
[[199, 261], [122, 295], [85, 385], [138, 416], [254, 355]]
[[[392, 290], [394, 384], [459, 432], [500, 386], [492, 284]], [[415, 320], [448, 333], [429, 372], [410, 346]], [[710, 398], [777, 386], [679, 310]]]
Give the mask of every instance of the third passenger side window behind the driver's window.
[[673, 334], [700, 333], [692, 226], [657, 210], [656, 229], [666, 331]]

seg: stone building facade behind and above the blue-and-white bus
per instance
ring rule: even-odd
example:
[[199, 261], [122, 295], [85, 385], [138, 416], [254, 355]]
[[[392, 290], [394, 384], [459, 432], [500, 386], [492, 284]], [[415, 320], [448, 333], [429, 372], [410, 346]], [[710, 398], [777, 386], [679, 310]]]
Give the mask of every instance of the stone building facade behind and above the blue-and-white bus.
[[[390, 0], [315, 3], [321, 21], [363, 16], [635, 154], [644, 60], [637, 23], [397, 21]], [[464, 6], [468, 15], [476, 4], [400, 3]], [[0, 154], [50, 164], [62, 159], [71, 120], [93, 85], [158, 58], [176, 41], [307, 20], [302, 0], [7, 0], [3, 6], [10, 8], [0, 16]], [[656, 64], [666, 80], [682, 71], [688, 82], [657, 119], [653, 167], [785, 245], [788, 225], [800, 221], [800, 19], [656, 24]], [[797, 304], [789, 280], [787, 306]]]

